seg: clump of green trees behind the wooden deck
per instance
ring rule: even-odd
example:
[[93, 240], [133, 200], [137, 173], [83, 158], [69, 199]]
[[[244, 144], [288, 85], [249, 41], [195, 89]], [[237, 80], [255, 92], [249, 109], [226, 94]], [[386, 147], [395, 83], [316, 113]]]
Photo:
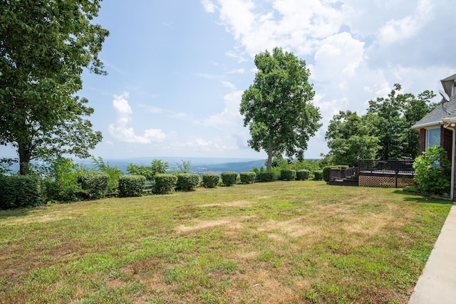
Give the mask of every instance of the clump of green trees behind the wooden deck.
[[395, 83], [388, 98], [369, 101], [366, 115], [340, 111], [334, 115], [326, 132], [330, 149], [326, 164], [356, 166], [358, 159], [415, 158], [420, 150], [420, 134], [411, 129], [436, 106], [430, 100], [432, 91], [425, 90], [415, 98], [410, 93], [398, 94]]

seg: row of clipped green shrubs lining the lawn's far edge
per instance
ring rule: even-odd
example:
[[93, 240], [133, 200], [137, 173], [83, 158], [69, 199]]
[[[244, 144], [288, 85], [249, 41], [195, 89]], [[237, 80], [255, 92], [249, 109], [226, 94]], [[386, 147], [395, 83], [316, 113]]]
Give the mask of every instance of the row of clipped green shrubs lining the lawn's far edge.
[[[343, 167], [343, 166], [331, 166]], [[328, 168], [331, 168], [328, 167]], [[323, 171], [314, 172], [315, 179], [321, 180], [329, 169], [325, 167]], [[327, 173], [329, 174], [329, 173]], [[75, 175], [76, 176], [76, 175]], [[202, 174], [202, 186], [206, 188], [217, 187], [220, 182], [226, 187], [237, 183], [237, 172], [223, 172], [222, 174], [204, 173]], [[282, 180], [306, 180], [309, 179], [308, 170], [289, 170], [282, 169], [280, 178]], [[273, 182], [274, 172], [241, 172], [240, 182], [251, 184], [259, 179], [260, 182]], [[78, 174], [77, 182], [75, 177], [75, 195], [86, 199], [100, 199], [103, 197], [105, 189], [108, 187], [109, 175], [100, 172], [84, 172]], [[142, 175], [123, 175], [119, 177], [118, 196], [141, 196], [144, 192], [146, 178]], [[152, 193], [167, 194], [174, 189], [190, 191], [199, 185], [198, 174], [157, 174], [155, 184], [152, 185]], [[31, 176], [0, 176], [0, 209], [11, 209], [17, 207], [33, 206], [39, 204], [42, 197], [46, 196], [43, 182], [39, 177]]]

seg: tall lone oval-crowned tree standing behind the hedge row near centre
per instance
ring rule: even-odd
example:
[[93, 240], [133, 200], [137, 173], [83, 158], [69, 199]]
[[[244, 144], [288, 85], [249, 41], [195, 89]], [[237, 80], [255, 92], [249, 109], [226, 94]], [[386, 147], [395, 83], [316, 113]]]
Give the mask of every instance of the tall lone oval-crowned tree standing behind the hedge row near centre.
[[270, 170], [274, 153], [304, 157], [309, 138], [321, 127], [321, 115], [311, 103], [315, 92], [305, 61], [274, 48], [272, 54], [257, 54], [254, 63], [258, 72], [242, 94], [240, 112], [252, 136], [249, 146], [268, 153]]

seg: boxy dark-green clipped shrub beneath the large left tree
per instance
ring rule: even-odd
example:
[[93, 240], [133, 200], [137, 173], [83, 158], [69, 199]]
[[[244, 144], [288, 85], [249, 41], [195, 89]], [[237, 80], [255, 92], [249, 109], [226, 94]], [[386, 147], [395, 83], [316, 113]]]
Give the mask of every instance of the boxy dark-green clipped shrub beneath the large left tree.
[[41, 179], [0, 175], [0, 209], [36, 206], [41, 203]]

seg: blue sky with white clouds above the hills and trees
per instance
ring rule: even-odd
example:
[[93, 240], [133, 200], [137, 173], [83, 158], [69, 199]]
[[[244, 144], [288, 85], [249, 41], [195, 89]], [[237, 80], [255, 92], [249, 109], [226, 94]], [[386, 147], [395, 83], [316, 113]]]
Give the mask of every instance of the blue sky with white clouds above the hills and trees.
[[437, 93], [456, 73], [453, 2], [105, 0], [95, 23], [110, 31], [100, 53], [108, 75], [83, 73], [78, 93], [103, 133], [92, 154], [265, 159], [247, 145], [239, 104], [254, 56], [278, 46], [310, 70], [323, 126], [304, 157], [319, 158], [339, 110], [363, 115], [394, 83]]

